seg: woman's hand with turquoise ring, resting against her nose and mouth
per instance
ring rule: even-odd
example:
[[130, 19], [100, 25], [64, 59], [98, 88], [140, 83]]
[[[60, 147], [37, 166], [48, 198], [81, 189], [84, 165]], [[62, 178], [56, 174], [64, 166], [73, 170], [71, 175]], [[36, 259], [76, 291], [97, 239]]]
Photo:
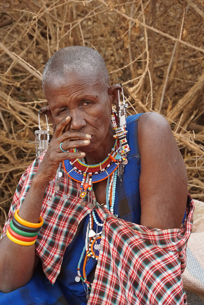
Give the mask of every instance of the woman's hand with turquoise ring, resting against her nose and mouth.
[[[70, 131], [71, 117], [66, 117], [55, 127], [54, 135], [50, 141], [50, 145], [46, 154], [39, 165], [35, 179], [39, 183], [47, 185], [56, 175], [59, 163], [67, 159], [82, 158], [85, 152], [63, 152], [70, 149], [80, 149], [80, 147], [90, 144], [91, 135], [87, 135], [80, 131]], [[60, 148], [60, 143], [63, 143]]]

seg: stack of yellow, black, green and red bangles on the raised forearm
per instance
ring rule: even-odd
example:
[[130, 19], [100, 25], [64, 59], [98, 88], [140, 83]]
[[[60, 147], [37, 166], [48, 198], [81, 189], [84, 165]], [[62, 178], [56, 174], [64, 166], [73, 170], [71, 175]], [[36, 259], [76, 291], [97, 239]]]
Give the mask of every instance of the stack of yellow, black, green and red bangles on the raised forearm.
[[38, 232], [43, 225], [43, 218], [40, 216], [39, 223], [36, 224], [22, 219], [18, 215], [18, 211], [13, 215], [6, 235], [18, 245], [31, 246], [35, 243]]

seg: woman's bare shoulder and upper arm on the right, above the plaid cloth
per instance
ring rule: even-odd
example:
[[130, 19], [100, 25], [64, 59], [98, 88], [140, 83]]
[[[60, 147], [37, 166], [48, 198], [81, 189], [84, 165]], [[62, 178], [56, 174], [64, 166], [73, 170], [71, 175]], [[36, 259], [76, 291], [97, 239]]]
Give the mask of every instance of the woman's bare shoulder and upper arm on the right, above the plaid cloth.
[[187, 173], [167, 120], [144, 113], [138, 122], [141, 224], [179, 228], [187, 201]]

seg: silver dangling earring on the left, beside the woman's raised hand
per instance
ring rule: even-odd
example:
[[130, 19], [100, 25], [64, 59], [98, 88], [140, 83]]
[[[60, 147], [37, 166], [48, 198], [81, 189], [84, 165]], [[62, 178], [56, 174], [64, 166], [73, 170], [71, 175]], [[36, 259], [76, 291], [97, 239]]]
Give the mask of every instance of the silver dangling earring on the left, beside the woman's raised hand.
[[[40, 109], [41, 111], [42, 109]], [[39, 161], [39, 156], [43, 154], [43, 151], [45, 152], [46, 149], [48, 149], [49, 140], [50, 140], [50, 134], [49, 134], [49, 125], [47, 121], [47, 115], [45, 113], [46, 123], [47, 123], [47, 130], [42, 130], [40, 126], [40, 111], [38, 113], [38, 122], [39, 122], [39, 130], [35, 131], [35, 148], [36, 148], [36, 161]], [[41, 139], [41, 135], [43, 136], [43, 139]], [[46, 135], [46, 138], [45, 138]]]

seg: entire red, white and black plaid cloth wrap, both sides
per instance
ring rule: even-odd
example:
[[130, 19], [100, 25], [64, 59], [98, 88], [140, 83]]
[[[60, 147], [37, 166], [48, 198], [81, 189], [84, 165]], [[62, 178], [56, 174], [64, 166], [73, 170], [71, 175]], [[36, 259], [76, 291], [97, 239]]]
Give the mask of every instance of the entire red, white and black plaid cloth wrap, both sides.
[[[6, 234], [14, 211], [27, 195], [38, 166], [34, 161], [22, 175], [2, 236]], [[82, 207], [76, 203], [79, 183], [66, 179], [65, 175], [61, 177], [60, 190], [51, 207], [46, 205], [49, 192], [45, 192], [44, 224], [36, 241], [36, 254], [51, 283], [60, 272], [65, 249], [80, 221], [91, 212], [87, 205]], [[69, 201], [63, 200], [66, 182]], [[105, 224], [88, 304], [187, 304], [181, 272], [186, 264], [185, 248], [192, 229], [193, 210], [191, 201], [180, 229], [158, 230], [118, 219], [99, 207], [97, 213]]]

